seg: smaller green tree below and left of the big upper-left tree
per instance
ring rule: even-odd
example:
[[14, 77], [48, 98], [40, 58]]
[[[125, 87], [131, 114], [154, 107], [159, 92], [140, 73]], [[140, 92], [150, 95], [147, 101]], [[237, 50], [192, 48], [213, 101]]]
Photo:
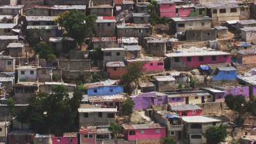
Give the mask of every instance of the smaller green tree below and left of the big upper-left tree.
[[39, 42], [36, 44], [35, 52], [40, 56], [40, 58], [44, 58], [46, 61], [56, 59], [55, 54], [52, 53], [51, 45], [46, 42]]

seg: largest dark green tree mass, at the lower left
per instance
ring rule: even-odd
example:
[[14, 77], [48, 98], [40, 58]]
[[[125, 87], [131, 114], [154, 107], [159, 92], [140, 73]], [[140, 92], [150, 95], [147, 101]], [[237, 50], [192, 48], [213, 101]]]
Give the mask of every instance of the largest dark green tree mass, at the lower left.
[[17, 118], [21, 123], [31, 124], [40, 134], [56, 134], [77, 131], [77, 108], [82, 99], [81, 92], [68, 96], [64, 86], [52, 86], [52, 93], [39, 93], [31, 99], [29, 106], [21, 109]]

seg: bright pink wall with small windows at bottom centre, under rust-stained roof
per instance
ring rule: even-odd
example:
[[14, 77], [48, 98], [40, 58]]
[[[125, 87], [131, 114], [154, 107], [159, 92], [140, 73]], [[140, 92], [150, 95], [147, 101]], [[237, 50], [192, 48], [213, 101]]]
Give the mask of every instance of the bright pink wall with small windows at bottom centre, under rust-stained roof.
[[[141, 134], [141, 129], [136, 129], [134, 130], [136, 132], [135, 135], [129, 136], [127, 134], [125, 134], [125, 138], [128, 141], [132, 141], [132, 140], [157, 140], [157, 139], [161, 139], [161, 138], [165, 138], [166, 137], [166, 128], [160, 128], [159, 129], [160, 132], [157, 133], [157, 129], [143, 129], [144, 133]], [[129, 131], [125, 131], [125, 133], [129, 133]]]

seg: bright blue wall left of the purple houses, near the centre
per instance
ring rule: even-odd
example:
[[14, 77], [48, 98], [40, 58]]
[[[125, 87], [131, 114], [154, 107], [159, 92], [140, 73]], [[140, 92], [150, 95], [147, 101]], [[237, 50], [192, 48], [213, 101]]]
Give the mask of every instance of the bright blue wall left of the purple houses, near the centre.
[[[113, 90], [111, 92], [110, 90]], [[97, 90], [97, 93], [93, 92]], [[124, 86], [100, 86], [97, 88], [90, 88], [88, 89], [88, 96], [98, 96], [98, 95], [115, 95], [117, 93], [123, 93]]]

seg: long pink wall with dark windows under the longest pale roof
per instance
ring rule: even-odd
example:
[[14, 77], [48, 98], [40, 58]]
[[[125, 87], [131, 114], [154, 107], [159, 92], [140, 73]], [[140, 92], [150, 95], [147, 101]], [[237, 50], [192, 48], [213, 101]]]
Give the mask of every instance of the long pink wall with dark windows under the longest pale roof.
[[[226, 57], [225, 57], [226, 56]], [[192, 56], [191, 61], [187, 61], [187, 57], [182, 58], [182, 61], [186, 63], [189, 68], [198, 68], [200, 65], [207, 65], [207, 64], [215, 64], [215, 63], [230, 63], [231, 56], [230, 55], [220, 55], [216, 56], [216, 60], [212, 61], [212, 56], [204, 56], [204, 61], [199, 61], [198, 56]]]

